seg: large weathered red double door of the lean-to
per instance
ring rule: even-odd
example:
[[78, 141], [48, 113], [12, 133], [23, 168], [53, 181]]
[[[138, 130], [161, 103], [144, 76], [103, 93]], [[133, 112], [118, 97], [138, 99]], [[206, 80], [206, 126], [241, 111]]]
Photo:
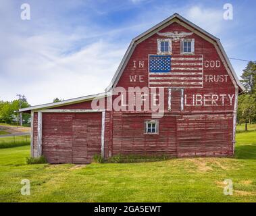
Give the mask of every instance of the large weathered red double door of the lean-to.
[[101, 154], [101, 113], [43, 113], [42, 146], [49, 163], [91, 163]]

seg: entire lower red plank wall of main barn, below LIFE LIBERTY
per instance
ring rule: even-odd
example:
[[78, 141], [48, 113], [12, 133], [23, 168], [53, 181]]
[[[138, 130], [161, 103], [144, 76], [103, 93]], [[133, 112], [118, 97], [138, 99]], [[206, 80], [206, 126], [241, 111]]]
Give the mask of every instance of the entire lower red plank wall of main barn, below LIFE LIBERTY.
[[114, 112], [113, 117], [112, 155], [232, 155], [232, 113], [165, 114], [158, 135], [143, 132], [151, 115]]

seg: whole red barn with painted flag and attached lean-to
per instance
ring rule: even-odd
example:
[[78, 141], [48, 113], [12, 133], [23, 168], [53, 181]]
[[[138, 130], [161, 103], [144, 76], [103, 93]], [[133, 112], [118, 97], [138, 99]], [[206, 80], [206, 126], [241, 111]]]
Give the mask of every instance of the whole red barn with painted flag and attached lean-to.
[[174, 14], [132, 40], [104, 93], [20, 111], [32, 115], [32, 157], [49, 163], [230, 156], [243, 90], [220, 40]]

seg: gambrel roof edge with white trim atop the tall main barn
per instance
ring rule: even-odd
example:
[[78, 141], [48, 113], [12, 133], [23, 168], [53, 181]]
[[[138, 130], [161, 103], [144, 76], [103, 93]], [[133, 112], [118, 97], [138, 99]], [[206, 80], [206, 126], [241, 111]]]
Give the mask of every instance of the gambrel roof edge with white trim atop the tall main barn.
[[189, 28], [191, 31], [195, 32], [195, 34], [198, 34], [199, 36], [202, 36], [203, 38], [208, 39], [207, 41], [213, 43], [215, 45], [216, 49], [218, 49], [220, 51], [219, 54], [222, 55], [222, 56], [220, 56], [222, 58], [222, 60], [224, 60], [226, 62], [226, 69], [228, 70], [230, 78], [232, 79], [232, 82], [234, 83], [234, 85], [238, 86], [239, 92], [243, 92], [245, 90], [244, 86], [242, 86], [242, 84], [240, 84], [238, 77], [236, 76], [236, 72], [234, 71], [234, 68], [232, 67], [232, 65], [230, 63], [228, 56], [226, 55], [226, 52], [224, 51], [224, 48], [222, 47], [222, 44], [220, 43], [220, 39], [213, 36], [209, 32], [206, 32], [205, 30], [203, 30], [203, 28], [200, 28], [199, 26], [193, 24], [192, 22], [186, 20], [185, 18], [183, 18], [182, 16], [180, 16], [179, 14], [176, 13], [176, 14], [173, 14], [172, 16], [170, 16], [169, 18], [163, 20], [159, 24], [153, 26], [152, 28], [149, 28], [149, 30], [147, 30], [146, 32], [143, 32], [142, 34], [140, 34], [132, 39], [132, 42], [130, 43], [126, 53], [124, 54], [124, 57], [118, 67], [118, 70], [116, 71], [116, 74], [114, 74], [114, 76], [111, 80], [111, 83], [105, 89], [106, 92], [111, 90], [111, 88], [116, 87], [116, 84], [118, 83], [118, 80], [122, 76], [122, 73], [124, 72], [124, 69], [126, 68], [126, 64], [128, 63], [128, 60], [130, 59], [130, 56], [132, 55], [132, 52], [134, 51], [136, 45], [138, 45], [138, 43], [144, 41], [145, 39], [149, 38], [149, 36], [155, 34], [159, 30], [172, 24], [173, 22], [182, 24], [183, 26], [185, 26], [185, 28]]

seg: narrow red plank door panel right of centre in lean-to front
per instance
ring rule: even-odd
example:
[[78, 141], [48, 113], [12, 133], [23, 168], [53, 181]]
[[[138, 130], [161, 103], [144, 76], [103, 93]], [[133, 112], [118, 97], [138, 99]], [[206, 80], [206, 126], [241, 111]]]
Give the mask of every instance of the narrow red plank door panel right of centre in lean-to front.
[[75, 114], [72, 123], [72, 163], [87, 163], [87, 119], [84, 114]]

